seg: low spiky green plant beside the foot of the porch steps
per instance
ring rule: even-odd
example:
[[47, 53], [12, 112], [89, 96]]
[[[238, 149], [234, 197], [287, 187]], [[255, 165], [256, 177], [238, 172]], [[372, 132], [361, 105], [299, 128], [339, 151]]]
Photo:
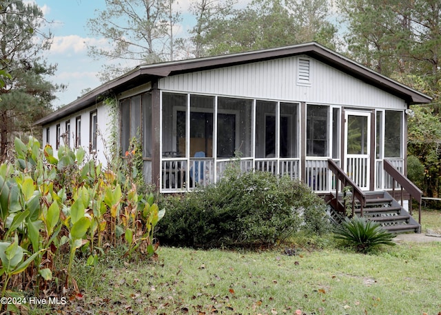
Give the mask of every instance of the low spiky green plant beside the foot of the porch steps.
[[383, 230], [380, 224], [358, 216], [346, 218], [336, 229], [336, 238], [342, 239], [363, 254], [367, 254], [378, 245], [395, 245], [393, 237], [394, 235]]

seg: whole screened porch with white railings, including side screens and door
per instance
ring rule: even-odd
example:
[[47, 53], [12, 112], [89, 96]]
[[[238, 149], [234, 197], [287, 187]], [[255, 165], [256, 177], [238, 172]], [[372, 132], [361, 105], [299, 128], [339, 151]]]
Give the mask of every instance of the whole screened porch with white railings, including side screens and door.
[[[404, 171], [404, 111], [271, 101], [182, 92], [159, 93], [160, 170], [152, 171], [152, 94], [121, 100], [121, 148], [142, 143], [144, 176], [162, 192], [216, 183], [227, 165], [261, 170], [333, 189], [328, 159], [363, 190], [391, 187], [387, 159]], [[302, 117], [303, 113], [303, 119]], [[342, 123], [343, 122], [343, 123]], [[152, 137], [153, 135], [153, 137]]]

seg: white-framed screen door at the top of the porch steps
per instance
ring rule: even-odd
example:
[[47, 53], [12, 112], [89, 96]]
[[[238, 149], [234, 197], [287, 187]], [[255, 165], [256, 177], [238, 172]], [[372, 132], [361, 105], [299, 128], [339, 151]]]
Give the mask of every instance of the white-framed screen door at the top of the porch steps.
[[345, 121], [345, 172], [362, 190], [369, 190], [371, 113], [346, 111]]

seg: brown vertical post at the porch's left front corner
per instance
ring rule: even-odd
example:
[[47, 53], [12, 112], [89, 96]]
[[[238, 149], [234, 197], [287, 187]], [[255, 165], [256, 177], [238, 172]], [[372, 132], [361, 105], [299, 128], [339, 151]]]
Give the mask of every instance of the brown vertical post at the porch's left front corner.
[[160, 190], [159, 175], [161, 174], [161, 98], [158, 81], [152, 81], [152, 183]]

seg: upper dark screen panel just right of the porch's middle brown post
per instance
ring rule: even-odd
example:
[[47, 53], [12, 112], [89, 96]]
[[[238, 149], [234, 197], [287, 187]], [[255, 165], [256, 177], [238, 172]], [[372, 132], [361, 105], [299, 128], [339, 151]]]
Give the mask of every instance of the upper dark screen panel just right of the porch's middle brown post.
[[307, 156], [328, 156], [328, 110], [323, 105], [307, 105]]

